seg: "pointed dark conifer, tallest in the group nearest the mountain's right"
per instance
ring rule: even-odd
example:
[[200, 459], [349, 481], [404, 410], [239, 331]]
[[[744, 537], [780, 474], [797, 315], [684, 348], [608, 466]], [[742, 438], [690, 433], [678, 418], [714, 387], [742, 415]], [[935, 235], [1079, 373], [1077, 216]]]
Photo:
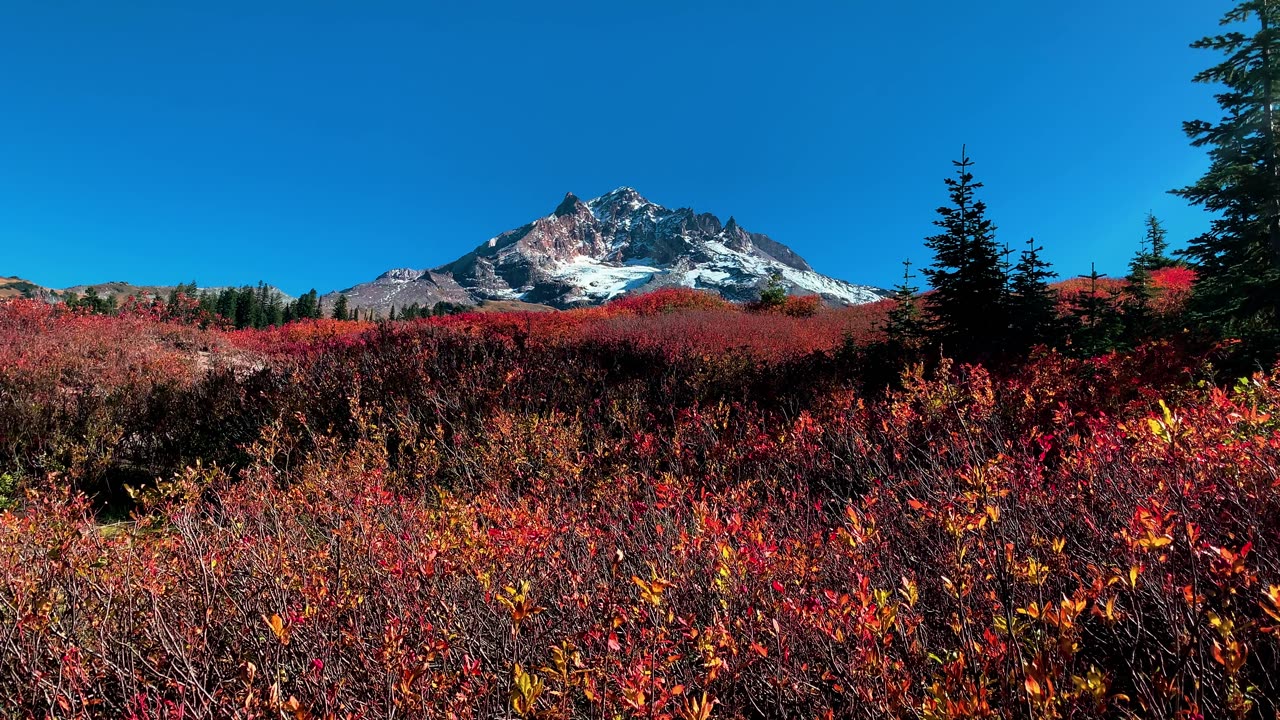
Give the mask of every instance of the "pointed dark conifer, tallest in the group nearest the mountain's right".
[[1001, 268], [996, 225], [986, 204], [974, 197], [982, 183], [973, 179], [973, 161], [961, 150], [952, 164], [956, 177], [945, 181], [951, 205], [938, 208], [933, 224], [942, 232], [925, 241], [933, 266], [924, 275], [934, 290], [928, 304], [931, 332], [946, 352], [969, 359], [1005, 347], [1009, 277]]

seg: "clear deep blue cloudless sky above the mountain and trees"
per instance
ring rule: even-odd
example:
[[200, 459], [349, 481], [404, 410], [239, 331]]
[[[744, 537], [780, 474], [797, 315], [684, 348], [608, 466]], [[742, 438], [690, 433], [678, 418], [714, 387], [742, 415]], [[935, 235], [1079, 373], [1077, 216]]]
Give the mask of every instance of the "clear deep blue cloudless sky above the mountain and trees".
[[1123, 274], [1226, 0], [0, 0], [0, 275], [344, 288], [627, 184], [891, 286], [968, 143], [998, 237]]

